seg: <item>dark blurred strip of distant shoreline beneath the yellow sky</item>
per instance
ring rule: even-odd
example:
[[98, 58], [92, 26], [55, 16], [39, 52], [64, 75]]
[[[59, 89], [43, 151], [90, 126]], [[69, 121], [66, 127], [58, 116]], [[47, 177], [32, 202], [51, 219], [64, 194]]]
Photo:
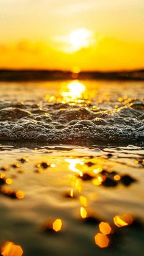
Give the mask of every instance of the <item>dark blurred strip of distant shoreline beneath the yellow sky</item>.
[[70, 79], [144, 81], [144, 69], [132, 71], [0, 70], [0, 81], [51, 81]]

